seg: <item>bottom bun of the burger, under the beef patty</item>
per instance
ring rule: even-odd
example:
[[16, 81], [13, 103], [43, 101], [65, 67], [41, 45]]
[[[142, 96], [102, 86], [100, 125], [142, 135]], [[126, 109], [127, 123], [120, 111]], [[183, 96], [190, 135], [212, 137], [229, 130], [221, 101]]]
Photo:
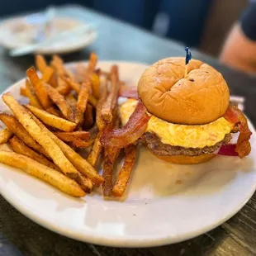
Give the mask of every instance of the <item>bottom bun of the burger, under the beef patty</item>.
[[197, 156], [188, 155], [157, 155], [157, 158], [173, 164], [201, 164], [213, 159], [216, 154], [200, 154]]

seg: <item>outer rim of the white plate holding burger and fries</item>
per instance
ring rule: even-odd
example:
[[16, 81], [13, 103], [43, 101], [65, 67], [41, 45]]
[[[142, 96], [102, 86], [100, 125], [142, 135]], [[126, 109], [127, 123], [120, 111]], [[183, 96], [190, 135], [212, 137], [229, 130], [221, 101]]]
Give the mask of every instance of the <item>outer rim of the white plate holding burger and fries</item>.
[[[67, 67], [71, 67], [74, 64], [78, 63], [88, 63], [87, 60], [85, 61], [73, 61], [67, 63]], [[140, 62], [134, 62], [134, 61], [123, 61], [123, 60], [101, 60], [99, 63], [105, 63], [105, 64], [139, 64], [139, 65], [144, 65], [145, 68], [148, 66], [148, 64], [143, 64]], [[25, 78], [21, 78], [18, 80], [16, 83], [12, 83], [10, 87], [8, 87], [4, 92], [0, 94], [2, 96], [3, 93], [6, 93], [10, 90], [10, 88], [15, 88], [19, 83], [24, 81]], [[249, 120], [249, 125], [252, 128], [253, 134], [255, 134], [255, 128], [253, 123]], [[111, 235], [111, 238], [107, 238], [106, 234], [103, 235], [92, 235], [88, 234], [86, 235], [83, 232], [78, 232], [72, 231], [72, 230], [67, 230], [67, 229], [62, 229], [59, 225], [56, 225], [55, 223], [51, 222], [50, 220], [44, 219], [43, 216], [37, 215], [36, 212], [30, 211], [28, 207], [22, 206], [19, 201], [15, 200], [14, 197], [10, 196], [10, 193], [8, 193], [8, 189], [4, 186], [1, 186], [2, 182], [0, 179], [0, 193], [2, 197], [8, 201], [8, 203], [11, 204], [17, 211], [20, 211], [22, 215], [26, 216], [30, 220], [36, 222], [36, 224], [43, 226], [44, 228], [51, 230], [59, 235], [64, 235], [66, 237], [69, 237], [71, 239], [76, 239], [81, 242], [89, 243], [89, 244], [98, 244], [98, 245], [106, 245], [106, 246], [111, 246], [111, 247], [130, 247], [130, 248], [145, 248], [145, 247], [153, 247], [153, 246], [160, 246], [160, 245], [167, 245], [167, 244], [175, 244], [178, 242], [183, 242], [184, 240], [187, 239], [192, 239], [198, 235], [205, 234], [206, 232], [215, 229], [217, 226], [223, 224], [225, 221], [229, 220], [232, 216], [235, 216], [235, 214], [240, 211], [244, 205], [249, 201], [249, 199], [254, 195], [254, 192], [256, 190], [256, 183], [254, 186], [250, 188], [250, 190], [247, 192], [246, 196], [244, 196], [244, 201], [239, 204], [235, 208], [234, 211], [230, 211], [228, 215], [225, 215], [223, 218], [219, 218], [216, 222], [212, 223], [211, 225], [204, 226], [203, 228], [199, 228], [197, 230], [192, 230], [190, 232], [187, 232], [186, 234], [182, 235], [176, 235], [175, 237], [173, 236], [164, 236], [164, 237], [159, 237], [159, 239], [152, 239], [152, 238], [140, 238], [138, 239], [137, 236], [134, 236], [134, 238], [124, 238], [120, 237], [118, 235]]]

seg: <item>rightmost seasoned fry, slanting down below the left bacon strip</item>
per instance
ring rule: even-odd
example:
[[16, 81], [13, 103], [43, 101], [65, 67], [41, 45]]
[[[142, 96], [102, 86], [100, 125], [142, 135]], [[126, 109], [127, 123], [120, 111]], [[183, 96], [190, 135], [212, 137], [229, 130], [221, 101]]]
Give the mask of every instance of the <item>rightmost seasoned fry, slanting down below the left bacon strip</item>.
[[136, 145], [129, 145], [125, 149], [125, 162], [121, 168], [120, 173], [118, 174], [115, 186], [112, 189], [112, 195], [114, 197], [122, 197], [126, 191], [126, 187], [130, 179], [130, 173], [132, 172], [132, 169], [135, 165], [136, 150]]

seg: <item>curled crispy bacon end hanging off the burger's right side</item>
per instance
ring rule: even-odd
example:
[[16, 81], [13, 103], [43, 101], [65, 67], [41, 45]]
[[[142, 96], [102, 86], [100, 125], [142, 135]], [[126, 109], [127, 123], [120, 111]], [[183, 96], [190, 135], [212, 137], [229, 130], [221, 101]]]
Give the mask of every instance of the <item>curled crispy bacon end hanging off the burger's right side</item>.
[[249, 143], [249, 138], [252, 132], [249, 130], [247, 119], [243, 112], [239, 110], [238, 107], [230, 105], [224, 115], [227, 121], [233, 124], [239, 125], [239, 138], [235, 146], [235, 152], [238, 153], [239, 158], [242, 159], [244, 156], [249, 155], [251, 152], [251, 145]]

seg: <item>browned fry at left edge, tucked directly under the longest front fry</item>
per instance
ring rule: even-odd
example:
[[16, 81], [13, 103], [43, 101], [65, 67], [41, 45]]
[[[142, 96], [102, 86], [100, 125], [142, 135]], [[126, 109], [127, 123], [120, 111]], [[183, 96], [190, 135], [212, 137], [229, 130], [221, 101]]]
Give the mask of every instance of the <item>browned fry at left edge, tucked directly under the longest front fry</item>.
[[36, 140], [34, 140], [31, 135], [26, 131], [26, 129], [21, 126], [21, 123], [17, 121], [17, 118], [8, 114], [0, 114], [0, 120], [7, 126], [13, 134], [17, 135], [26, 145], [35, 149], [40, 154], [44, 154], [46, 157], [50, 158], [49, 154], [46, 153], [45, 149], [40, 146]]

